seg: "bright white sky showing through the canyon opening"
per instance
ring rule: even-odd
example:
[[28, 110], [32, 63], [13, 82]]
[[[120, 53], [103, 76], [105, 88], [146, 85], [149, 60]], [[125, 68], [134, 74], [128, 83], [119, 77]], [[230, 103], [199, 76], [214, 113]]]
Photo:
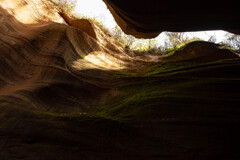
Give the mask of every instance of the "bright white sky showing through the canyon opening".
[[[98, 20], [102, 21], [103, 24], [111, 29], [114, 28], [116, 22], [111, 15], [110, 11], [107, 9], [106, 4], [102, 0], [78, 0], [76, 9], [76, 14], [80, 14], [82, 16], [87, 17], [95, 17]], [[221, 42], [224, 38], [225, 31], [203, 31], [203, 32], [189, 32], [189, 36], [199, 37], [203, 40], [208, 40], [211, 35], [216, 36], [216, 43]], [[157, 37], [157, 40], [161, 43], [164, 39], [164, 34], [160, 34]]]

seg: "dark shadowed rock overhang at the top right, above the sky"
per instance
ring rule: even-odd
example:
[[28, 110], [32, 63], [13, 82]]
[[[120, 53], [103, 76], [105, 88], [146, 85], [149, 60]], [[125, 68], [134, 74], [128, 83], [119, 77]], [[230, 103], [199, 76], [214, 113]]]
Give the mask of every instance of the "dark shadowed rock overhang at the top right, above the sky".
[[163, 31], [228, 30], [240, 33], [238, 2], [104, 0], [126, 34], [153, 38]]

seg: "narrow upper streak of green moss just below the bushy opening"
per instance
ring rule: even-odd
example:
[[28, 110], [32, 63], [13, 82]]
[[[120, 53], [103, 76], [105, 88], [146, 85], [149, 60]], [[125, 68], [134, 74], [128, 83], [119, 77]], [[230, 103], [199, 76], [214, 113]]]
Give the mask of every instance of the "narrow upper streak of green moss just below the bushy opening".
[[133, 78], [133, 77], [164, 77], [169, 75], [175, 75], [180, 73], [190, 73], [194, 71], [227, 67], [227, 66], [240, 66], [239, 59], [233, 60], [219, 60], [214, 62], [193, 62], [193, 61], [182, 61], [182, 62], [169, 62], [169, 63], [156, 63], [146, 65], [143, 68], [115, 72], [114, 78]]

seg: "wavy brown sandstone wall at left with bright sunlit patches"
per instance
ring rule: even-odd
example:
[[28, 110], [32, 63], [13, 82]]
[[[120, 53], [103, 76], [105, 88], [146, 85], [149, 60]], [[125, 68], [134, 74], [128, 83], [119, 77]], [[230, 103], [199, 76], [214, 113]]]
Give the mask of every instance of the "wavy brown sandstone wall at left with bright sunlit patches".
[[1, 1], [1, 99], [41, 111], [86, 112], [104, 104], [103, 96], [111, 99], [111, 89], [99, 87], [110, 85], [102, 71], [123, 69], [132, 58], [87, 20], [94, 35], [64, 24], [52, 5]]

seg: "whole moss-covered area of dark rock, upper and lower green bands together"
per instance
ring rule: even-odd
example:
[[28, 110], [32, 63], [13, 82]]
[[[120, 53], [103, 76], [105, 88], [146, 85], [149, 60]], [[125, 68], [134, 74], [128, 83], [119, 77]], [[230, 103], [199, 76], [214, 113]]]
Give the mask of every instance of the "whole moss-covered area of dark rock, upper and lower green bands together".
[[105, 119], [127, 123], [139, 117], [161, 114], [165, 107], [236, 105], [240, 90], [239, 62], [235, 59], [207, 63], [158, 63], [115, 72], [115, 79], [126, 82], [118, 88], [125, 94], [120, 100], [98, 106], [88, 114], [45, 114], [77, 121]]

